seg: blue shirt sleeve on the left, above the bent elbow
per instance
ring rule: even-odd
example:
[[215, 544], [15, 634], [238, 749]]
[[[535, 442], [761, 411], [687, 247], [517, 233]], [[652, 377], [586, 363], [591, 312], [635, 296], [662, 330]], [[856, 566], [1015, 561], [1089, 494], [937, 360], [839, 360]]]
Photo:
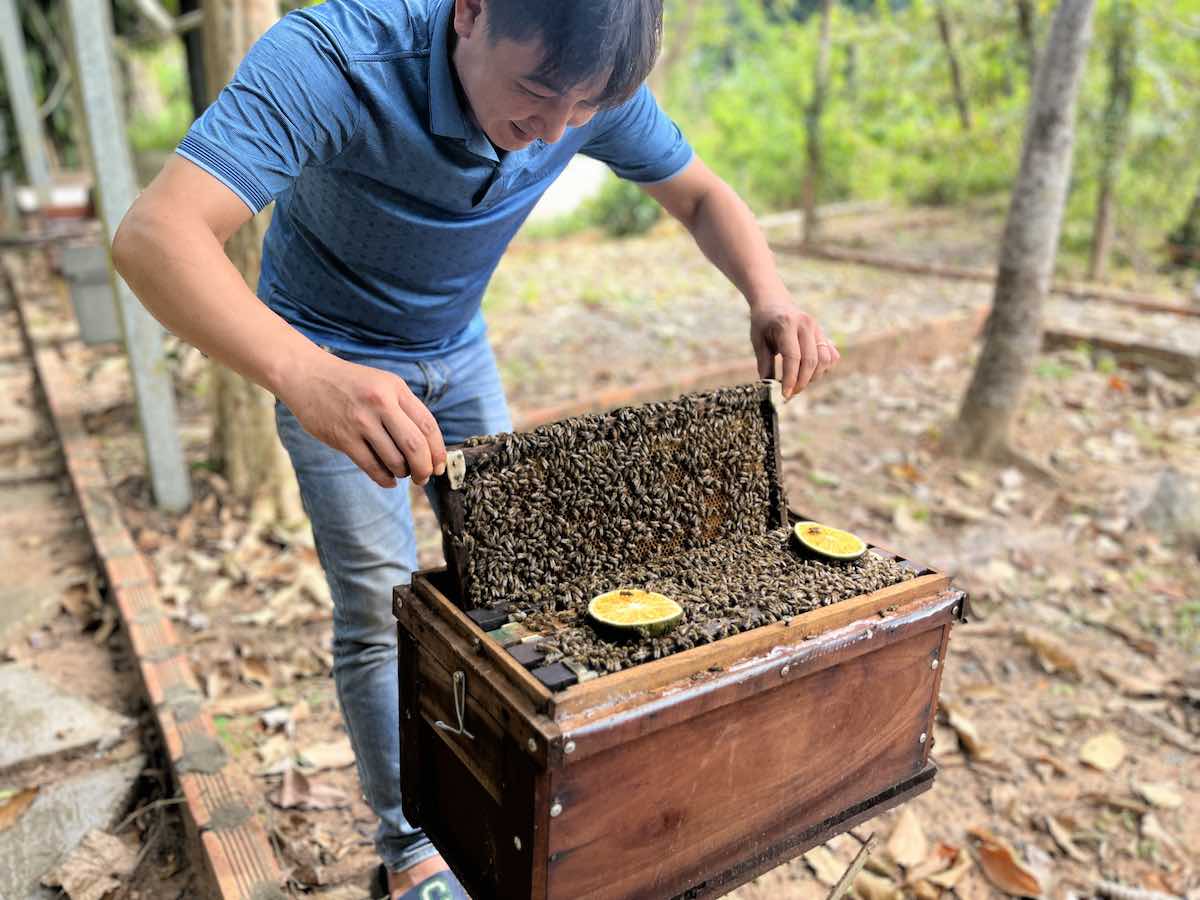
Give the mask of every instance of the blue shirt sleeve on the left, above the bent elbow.
[[307, 11], [293, 12], [250, 48], [175, 152], [259, 212], [304, 167], [341, 152], [359, 108], [334, 35]]

